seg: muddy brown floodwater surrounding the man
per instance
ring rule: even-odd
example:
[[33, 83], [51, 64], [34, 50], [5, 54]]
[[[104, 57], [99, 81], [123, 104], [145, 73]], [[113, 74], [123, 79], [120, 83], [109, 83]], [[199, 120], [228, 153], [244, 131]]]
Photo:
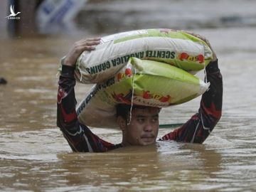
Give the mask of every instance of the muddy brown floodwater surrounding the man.
[[[8, 83], [0, 85], [0, 191], [256, 191], [256, 28], [240, 25], [191, 29], [211, 42], [223, 74], [223, 117], [204, 144], [158, 142], [102, 154], [73, 153], [55, 123], [58, 62], [80, 37], [1, 39], [0, 77]], [[76, 86], [78, 101], [89, 87]], [[186, 122], [199, 101], [162, 110], [161, 124]], [[160, 129], [159, 137], [170, 131]], [[121, 142], [117, 129], [92, 132]]]

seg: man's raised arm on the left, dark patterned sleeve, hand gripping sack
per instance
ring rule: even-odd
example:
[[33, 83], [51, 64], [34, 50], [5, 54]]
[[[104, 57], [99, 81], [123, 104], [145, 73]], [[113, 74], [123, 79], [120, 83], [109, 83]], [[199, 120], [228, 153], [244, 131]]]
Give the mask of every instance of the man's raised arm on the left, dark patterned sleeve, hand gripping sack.
[[62, 61], [62, 72], [58, 82], [57, 125], [73, 151], [103, 152], [117, 147], [100, 139], [92, 134], [88, 127], [80, 124], [75, 112], [75, 61], [82, 51], [93, 50], [99, 40], [94, 38], [78, 41]]

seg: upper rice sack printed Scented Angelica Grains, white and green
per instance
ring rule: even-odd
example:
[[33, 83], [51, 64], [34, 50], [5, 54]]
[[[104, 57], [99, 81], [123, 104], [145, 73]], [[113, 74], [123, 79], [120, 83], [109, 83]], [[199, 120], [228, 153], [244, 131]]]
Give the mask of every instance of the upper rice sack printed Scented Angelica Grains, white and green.
[[171, 29], [146, 29], [105, 36], [95, 50], [77, 60], [75, 78], [82, 83], [103, 82], [118, 73], [130, 57], [169, 63], [186, 71], [208, 65], [213, 53], [200, 38]]

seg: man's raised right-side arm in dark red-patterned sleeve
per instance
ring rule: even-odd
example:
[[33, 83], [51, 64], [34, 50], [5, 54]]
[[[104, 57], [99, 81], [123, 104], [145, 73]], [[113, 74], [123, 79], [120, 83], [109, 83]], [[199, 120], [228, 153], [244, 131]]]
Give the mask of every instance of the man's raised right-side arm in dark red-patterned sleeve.
[[[195, 34], [193, 34], [195, 35]], [[199, 38], [202, 38], [199, 36]], [[208, 43], [208, 41], [202, 38]], [[210, 46], [210, 43], [208, 43]], [[202, 95], [198, 113], [180, 128], [166, 134], [160, 140], [203, 143], [218, 123], [223, 102], [223, 81], [218, 68], [218, 59], [213, 52], [213, 61], [206, 67], [206, 78], [210, 82], [209, 90]]]

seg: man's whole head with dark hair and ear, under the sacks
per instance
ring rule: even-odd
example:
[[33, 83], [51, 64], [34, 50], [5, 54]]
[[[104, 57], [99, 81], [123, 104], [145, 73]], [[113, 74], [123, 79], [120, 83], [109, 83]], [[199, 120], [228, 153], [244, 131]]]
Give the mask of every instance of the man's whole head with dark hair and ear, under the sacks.
[[158, 107], [145, 107], [135, 105], [117, 105], [117, 123], [122, 130], [122, 144], [127, 145], [148, 145], [156, 142], [159, 130]]

